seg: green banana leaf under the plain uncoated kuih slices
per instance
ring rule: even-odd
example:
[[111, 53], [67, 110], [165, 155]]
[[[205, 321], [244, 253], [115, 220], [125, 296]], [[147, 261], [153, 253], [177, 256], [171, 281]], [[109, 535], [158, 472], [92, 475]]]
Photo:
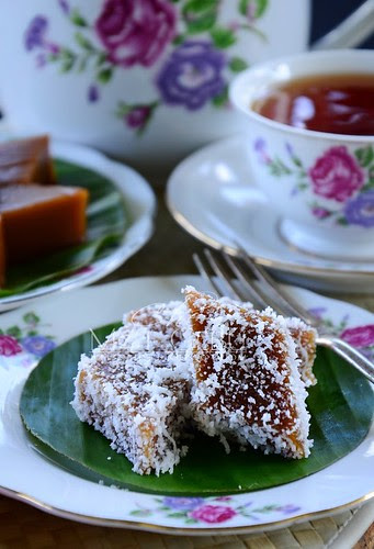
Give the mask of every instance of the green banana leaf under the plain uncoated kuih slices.
[[7, 273], [7, 285], [0, 289], [0, 299], [72, 274], [110, 254], [125, 233], [127, 214], [123, 195], [111, 180], [99, 172], [64, 160], [56, 159], [54, 165], [59, 184], [84, 187], [89, 190], [86, 242], [35, 261], [11, 267]]

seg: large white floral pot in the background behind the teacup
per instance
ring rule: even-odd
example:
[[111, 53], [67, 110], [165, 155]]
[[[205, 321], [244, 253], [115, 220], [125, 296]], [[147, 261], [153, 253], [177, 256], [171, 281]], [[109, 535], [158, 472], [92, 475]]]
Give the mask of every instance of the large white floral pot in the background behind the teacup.
[[16, 132], [170, 168], [241, 130], [231, 78], [305, 49], [309, 20], [308, 0], [2, 0], [0, 104]]

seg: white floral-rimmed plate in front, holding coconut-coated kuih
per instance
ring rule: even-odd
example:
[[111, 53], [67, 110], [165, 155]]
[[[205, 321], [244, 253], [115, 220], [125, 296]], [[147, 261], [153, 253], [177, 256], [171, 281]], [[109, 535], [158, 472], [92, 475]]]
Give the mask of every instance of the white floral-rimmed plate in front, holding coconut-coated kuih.
[[[355, 450], [322, 471], [282, 486], [226, 497], [162, 497], [99, 485], [59, 469], [31, 447], [21, 424], [19, 399], [37, 355], [89, 328], [118, 321], [131, 309], [180, 299], [180, 289], [186, 283], [204, 289], [201, 279], [192, 276], [128, 279], [49, 296], [35, 302], [32, 310], [27, 306], [1, 315], [0, 328], [18, 328], [19, 343], [0, 337], [0, 492], [80, 522], [173, 534], [285, 526], [373, 497], [374, 426]], [[291, 290], [343, 335], [370, 344], [366, 352], [374, 351], [374, 315], [307, 290]], [[37, 336], [23, 339], [33, 323]], [[348, 327], [355, 330], [347, 332]], [[191, 515], [194, 524], [189, 524]]]

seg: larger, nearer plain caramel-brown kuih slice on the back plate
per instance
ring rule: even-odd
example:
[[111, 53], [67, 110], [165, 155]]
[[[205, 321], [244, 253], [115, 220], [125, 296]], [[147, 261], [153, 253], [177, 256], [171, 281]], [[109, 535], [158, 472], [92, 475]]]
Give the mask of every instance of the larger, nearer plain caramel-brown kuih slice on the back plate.
[[0, 187], [0, 285], [9, 266], [83, 242], [87, 202], [77, 187]]

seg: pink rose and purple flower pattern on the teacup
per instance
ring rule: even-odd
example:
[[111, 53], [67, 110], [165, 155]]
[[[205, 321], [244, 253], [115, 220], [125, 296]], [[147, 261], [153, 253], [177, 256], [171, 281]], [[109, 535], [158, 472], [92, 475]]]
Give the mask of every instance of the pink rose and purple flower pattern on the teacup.
[[286, 143], [285, 158], [268, 153], [262, 137], [253, 144], [260, 164], [274, 178], [291, 177], [295, 184], [291, 195], [309, 190], [316, 199], [309, 202], [315, 219], [331, 219], [339, 225], [374, 227], [374, 147], [366, 145], [351, 153], [345, 145], [326, 149], [313, 166], [305, 166]]

